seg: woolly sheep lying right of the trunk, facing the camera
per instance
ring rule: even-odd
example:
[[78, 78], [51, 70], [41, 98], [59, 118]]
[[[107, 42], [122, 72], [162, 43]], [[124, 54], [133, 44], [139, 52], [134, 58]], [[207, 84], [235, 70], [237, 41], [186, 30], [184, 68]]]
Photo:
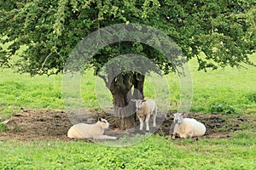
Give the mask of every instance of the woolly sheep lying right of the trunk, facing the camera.
[[206, 127], [203, 123], [193, 118], [183, 118], [183, 113], [173, 114], [175, 123], [172, 139], [176, 136], [180, 138], [192, 138], [194, 136], [202, 136], [206, 133]]

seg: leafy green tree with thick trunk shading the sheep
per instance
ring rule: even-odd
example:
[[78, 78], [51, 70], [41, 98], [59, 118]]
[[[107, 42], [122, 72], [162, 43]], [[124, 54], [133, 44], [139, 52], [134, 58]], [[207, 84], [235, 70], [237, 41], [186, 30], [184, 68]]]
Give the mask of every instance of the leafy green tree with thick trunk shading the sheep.
[[[0, 65], [15, 66], [20, 73], [28, 72], [32, 76], [61, 73], [80, 40], [92, 31], [119, 23], [143, 24], [163, 31], [177, 42], [187, 60], [198, 60], [199, 70], [226, 65], [240, 67], [242, 63], [253, 65], [248, 54], [255, 53], [255, 16], [253, 0], [0, 2], [1, 42], [12, 42], [8, 48], [1, 49]], [[18, 54], [24, 45], [26, 49]], [[201, 52], [206, 57], [201, 58]], [[127, 53], [146, 56], [164, 74], [176, 71], [163, 54], [140, 42], [113, 43], [102, 48], [89, 63], [98, 74], [110, 59]], [[14, 54], [19, 58], [13, 59]], [[123, 107], [129, 104], [130, 98], [142, 99], [144, 78], [134, 71], [112, 78], [114, 81], [108, 82], [108, 88], [113, 94], [113, 105]], [[137, 89], [136, 93], [129, 94], [131, 87]], [[125, 118], [122, 125], [117, 123], [118, 126], [131, 127], [134, 123], [131, 117]]]

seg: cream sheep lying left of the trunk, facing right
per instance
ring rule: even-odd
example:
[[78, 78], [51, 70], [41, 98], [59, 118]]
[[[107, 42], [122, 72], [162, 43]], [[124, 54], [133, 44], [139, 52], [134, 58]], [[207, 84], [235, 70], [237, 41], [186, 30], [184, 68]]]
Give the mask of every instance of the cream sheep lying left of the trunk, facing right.
[[69, 128], [67, 137], [73, 139], [117, 139], [117, 137], [103, 135], [104, 130], [108, 127], [108, 121], [100, 117], [95, 124], [78, 123], [73, 125]]

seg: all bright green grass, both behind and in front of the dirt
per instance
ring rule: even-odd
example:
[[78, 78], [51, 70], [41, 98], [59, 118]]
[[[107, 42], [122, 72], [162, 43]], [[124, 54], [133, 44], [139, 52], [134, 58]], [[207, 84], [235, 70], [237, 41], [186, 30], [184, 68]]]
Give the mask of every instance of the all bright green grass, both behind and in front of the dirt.
[[[256, 62], [256, 54], [251, 59]], [[256, 68], [196, 71], [189, 63], [193, 78], [193, 103], [190, 111], [206, 114], [221, 112], [256, 117]], [[10, 70], [0, 72], [0, 119], [20, 107], [65, 109], [61, 99], [61, 75], [29, 77]], [[175, 74], [165, 77], [170, 88], [170, 109], [179, 102], [179, 80]], [[82, 79], [84, 105], [98, 105], [96, 77], [91, 71]], [[153, 97], [152, 86], [145, 84], [145, 96]], [[153, 89], [154, 90], [154, 89]], [[256, 169], [255, 130], [232, 133], [230, 139], [176, 140], [159, 135], [129, 147], [110, 147], [84, 141], [22, 142], [1, 139], [1, 169]], [[252, 131], [253, 130], [253, 131]], [[136, 138], [136, 137], [135, 137]]]

